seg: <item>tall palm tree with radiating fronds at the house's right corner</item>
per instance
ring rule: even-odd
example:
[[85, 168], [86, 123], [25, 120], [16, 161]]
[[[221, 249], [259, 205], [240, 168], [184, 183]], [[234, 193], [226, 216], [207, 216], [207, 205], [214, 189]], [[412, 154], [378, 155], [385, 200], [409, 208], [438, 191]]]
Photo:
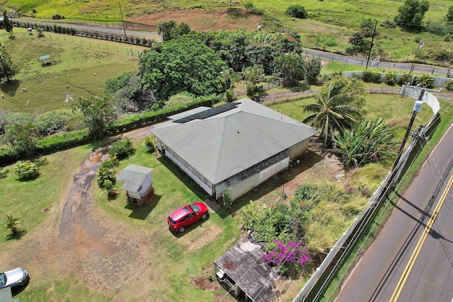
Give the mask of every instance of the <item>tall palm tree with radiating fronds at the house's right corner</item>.
[[344, 81], [333, 80], [326, 83], [315, 96], [316, 103], [303, 105], [304, 112], [311, 115], [302, 122], [320, 130], [324, 146], [330, 146], [333, 134], [343, 134], [360, 118], [360, 109], [355, 107], [357, 95], [349, 91]]

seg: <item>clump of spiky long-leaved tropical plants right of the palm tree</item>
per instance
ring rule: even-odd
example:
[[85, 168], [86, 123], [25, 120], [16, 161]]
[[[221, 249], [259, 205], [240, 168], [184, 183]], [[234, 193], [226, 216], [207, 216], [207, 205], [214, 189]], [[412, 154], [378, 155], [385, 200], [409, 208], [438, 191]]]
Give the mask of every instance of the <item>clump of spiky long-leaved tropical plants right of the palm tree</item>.
[[336, 153], [348, 167], [357, 167], [379, 161], [382, 156], [391, 156], [397, 147], [396, 132], [384, 120], [363, 120], [336, 135], [333, 141], [338, 145]]

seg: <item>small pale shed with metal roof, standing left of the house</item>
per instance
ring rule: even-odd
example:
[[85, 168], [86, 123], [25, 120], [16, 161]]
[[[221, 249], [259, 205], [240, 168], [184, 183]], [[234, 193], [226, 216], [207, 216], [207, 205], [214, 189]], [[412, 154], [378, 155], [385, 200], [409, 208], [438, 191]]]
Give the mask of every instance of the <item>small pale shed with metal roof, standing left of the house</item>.
[[149, 196], [154, 194], [152, 171], [154, 171], [153, 168], [128, 165], [118, 175], [117, 180], [123, 182], [121, 190], [127, 191], [131, 204], [142, 205]]

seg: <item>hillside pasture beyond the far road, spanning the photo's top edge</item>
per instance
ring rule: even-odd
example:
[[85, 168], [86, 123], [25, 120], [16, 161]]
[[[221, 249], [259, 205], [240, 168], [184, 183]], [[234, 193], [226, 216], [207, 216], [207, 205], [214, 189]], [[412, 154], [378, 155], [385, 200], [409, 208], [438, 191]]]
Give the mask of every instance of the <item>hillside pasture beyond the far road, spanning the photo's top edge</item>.
[[[39, 1], [10, 0], [6, 6], [27, 8], [29, 4]], [[233, 8], [243, 8], [248, 1], [234, 2]], [[291, 30], [302, 36], [302, 45], [305, 47], [323, 47], [319, 40], [330, 40], [329, 51], [344, 51], [348, 46], [348, 39], [358, 30], [363, 18], [372, 18], [380, 23], [392, 21], [398, 13], [402, 0], [377, 0], [377, 1], [250, 1], [257, 8], [264, 8], [265, 15], [240, 15], [236, 12], [221, 14], [229, 7], [228, 1], [122, 1], [122, 11], [127, 20], [156, 26], [165, 20], [176, 20], [188, 23], [195, 30], [234, 30], [235, 28], [256, 29], [263, 25], [265, 31]], [[309, 19], [299, 20], [285, 14], [285, 10], [292, 4], [301, 4], [309, 13]], [[453, 5], [452, 1], [430, 1], [430, 9], [425, 13], [424, 22], [443, 21], [447, 8]], [[35, 16], [51, 17], [54, 14], [77, 18], [93, 18], [103, 21], [120, 21], [120, 9], [116, 1], [64, 1], [53, 0], [38, 6]], [[191, 10], [188, 12], [185, 10]], [[26, 9], [25, 9], [26, 11]], [[215, 11], [215, 12], [214, 12]], [[240, 16], [240, 18], [238, 17]], [[258, 18], [257, 18], [258, 17]], [[238, 26], [234, 26], [237, 23]], [[375, 45], [379, 45], [386, 52], [386, 58], [405, 61], [413, 59], [417, 43], [415, 36], [425, 41], [422, 52], [430, 52], [443, 48], [452, 49], [453, 42], [445, 42], [443, 37], [430, 33], [408, 33], [401, 28], [386, 28], [378, 26], [379, 36]], [[318, 42], [316, 42], [318, 41]], [[420, 53], [421, 55], [421, 53]]]

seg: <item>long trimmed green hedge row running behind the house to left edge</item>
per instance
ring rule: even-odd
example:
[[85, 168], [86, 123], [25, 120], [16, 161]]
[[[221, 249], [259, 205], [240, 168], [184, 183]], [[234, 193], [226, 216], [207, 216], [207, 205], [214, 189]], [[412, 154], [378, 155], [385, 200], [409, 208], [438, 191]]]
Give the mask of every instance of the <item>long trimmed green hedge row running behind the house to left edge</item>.
[[[212, 98], [200, 97], [195, 98], [191, 102], [185, 105], [179, 105], [172, 108], [166, 108], [158, 111], [151, 111], [142, 114], [133, 115], [124, 120], [117, 120], [113, 123], [109, 129], [109, 134], [117, 134], [119, 132], [126, 132], [140, 127], [147, 126], [166, 120], [171, 115], [184, 112], [200, 106], [211, 107]], [[88, 136], [86, 129], [68, 132], [65, 134], [55, 134], [45, 139], [40, 139], [36, 143], [36, 153], [38, 154], [51, 154], [57, 151], [62, 151], [75, 146], [81, 146], [91, 141], [91, 137]], [[26, 157], [26, 153], [23, 149], [0, 149], [0, 166], [14, 163]]]

